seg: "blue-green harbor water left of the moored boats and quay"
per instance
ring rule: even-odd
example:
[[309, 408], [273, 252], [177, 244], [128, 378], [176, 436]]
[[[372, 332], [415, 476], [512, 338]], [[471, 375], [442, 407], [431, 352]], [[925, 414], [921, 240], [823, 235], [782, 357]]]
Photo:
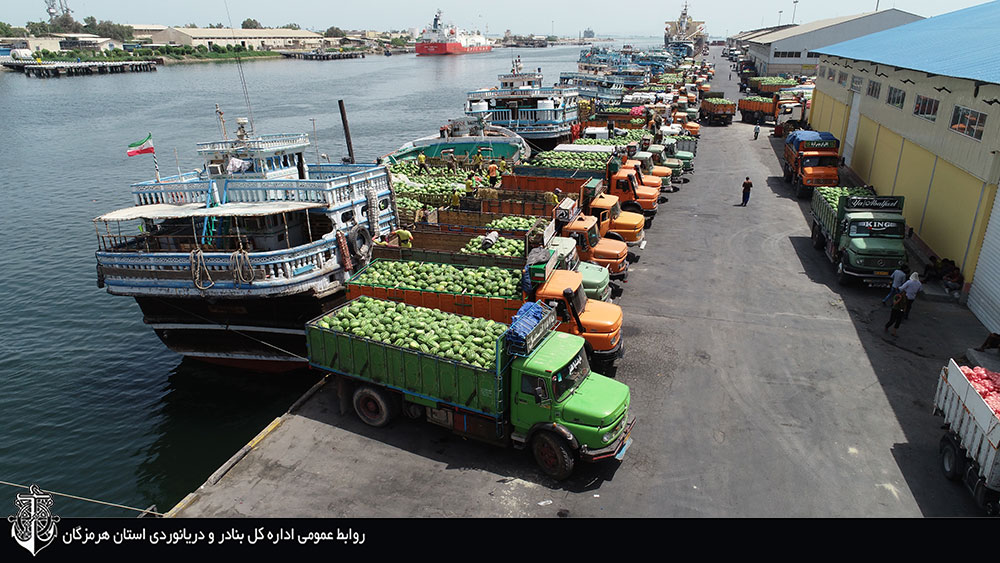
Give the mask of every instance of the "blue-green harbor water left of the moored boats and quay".
[[[648, 40], [650, 45], [654, 40]], [[131, 205], [150, 155], [125, 147], [152, 133], [162, 174], [201, 167], [198, 142], [252, 117], [256, 133], [309, 133], [347, 155], [343, 99], [359, 162], [372, 162], [462, 116], [466, 92], [496, 84], [519, 55], [547, 84], [576, 69], [580, 47], [500, 49], [461, 57], [177, 64], [155, 73], [39, 80], [0, 73], [0, 480], [168, 510], [317, 379], [183, 360], [142, 322], [131, 298], [96, 286], [91, 220]], [[176, 149], [176, 158], [175, 151]], [[19, 489], [0, 486], [0, 502]], [[55, 497], [61, 516], [132, 516]]]

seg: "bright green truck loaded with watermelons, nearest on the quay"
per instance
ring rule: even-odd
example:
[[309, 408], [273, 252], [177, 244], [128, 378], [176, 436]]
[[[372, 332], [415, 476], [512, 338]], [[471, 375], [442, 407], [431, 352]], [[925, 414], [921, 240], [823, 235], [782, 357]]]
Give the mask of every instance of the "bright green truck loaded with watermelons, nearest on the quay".
[[635, 416], [624, 383], [590, 371], [579, 336], [526, 303], [513, 322], [360, 297], [306, 325], [311, 366], [334, 374], [342, 407], [368, 425], [399, 414], [463, 437], [531, 448], [542, 470], [621, 460]]

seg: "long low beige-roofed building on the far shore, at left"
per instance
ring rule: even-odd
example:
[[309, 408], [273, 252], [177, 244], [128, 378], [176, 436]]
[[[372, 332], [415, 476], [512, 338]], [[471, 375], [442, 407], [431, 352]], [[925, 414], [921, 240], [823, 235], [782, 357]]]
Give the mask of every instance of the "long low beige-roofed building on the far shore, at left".
[[271, 49], [318, 49], [331, 44], [321, 34], [304, 29], [205, 29], [200, 27], [168, 27], [154, 33], [154, 43], [191, 45], [192, 47], [229, 45], [268, 51]]

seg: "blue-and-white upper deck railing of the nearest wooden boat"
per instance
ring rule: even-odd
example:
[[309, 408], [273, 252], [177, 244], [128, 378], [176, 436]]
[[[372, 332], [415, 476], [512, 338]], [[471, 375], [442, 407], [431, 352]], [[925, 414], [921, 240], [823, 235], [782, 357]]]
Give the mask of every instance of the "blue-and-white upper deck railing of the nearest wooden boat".
[[369, 187], [389, 188], [387, 169], [374, 164], [314, 164], [309, 176], [308, 180], [201, 179], [188, 173], [133, 184], [132, 197], [136, 205], [299, 201], [335, 207], [366, 197]]

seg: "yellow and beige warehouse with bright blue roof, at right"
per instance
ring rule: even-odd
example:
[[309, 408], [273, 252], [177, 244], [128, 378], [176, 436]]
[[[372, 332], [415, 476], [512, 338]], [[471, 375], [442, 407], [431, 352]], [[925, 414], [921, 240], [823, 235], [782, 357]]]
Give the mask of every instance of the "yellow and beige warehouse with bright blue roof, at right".
[[[842, 139], [879, 195], [905, 196], [910, 242], [954, 260], [1000, 332], [1000, 2], [818, 49], [809, 121]], [[958, 43], [954, 43], [958, 41]], [[948, 45], [958, 48], [945, 48]]]

